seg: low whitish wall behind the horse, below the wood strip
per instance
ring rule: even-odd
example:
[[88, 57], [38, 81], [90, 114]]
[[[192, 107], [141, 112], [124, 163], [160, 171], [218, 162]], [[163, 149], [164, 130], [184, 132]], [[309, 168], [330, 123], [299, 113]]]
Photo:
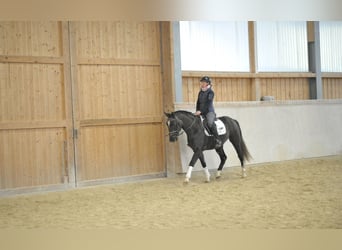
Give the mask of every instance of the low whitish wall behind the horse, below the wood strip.
[[[194, 111], [194, 104], [176, 104], [176, 110]], [[293, 160], [342, 154], [342, 100], [271, 101], [215, 103], [218, 116], [228, 115], [239, 121], [246, 145], [253, 156], [248, 164]], [[186, 135], [179, 138], [182, 169], [192, 157]], [[225, 167], [239, 166], [230, 142], [224, 146], [228, 155]], [[206, 151], [210, 169], [216, 169], [219, 157]], [[195, 170], [201, 170], [200, 162]]]

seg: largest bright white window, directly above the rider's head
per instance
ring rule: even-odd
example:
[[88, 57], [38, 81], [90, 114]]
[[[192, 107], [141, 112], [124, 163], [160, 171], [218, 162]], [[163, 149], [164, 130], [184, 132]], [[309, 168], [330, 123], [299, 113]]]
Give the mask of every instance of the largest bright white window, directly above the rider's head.
[[182, 70], [249, 71], [247, 22], [180, 22]]

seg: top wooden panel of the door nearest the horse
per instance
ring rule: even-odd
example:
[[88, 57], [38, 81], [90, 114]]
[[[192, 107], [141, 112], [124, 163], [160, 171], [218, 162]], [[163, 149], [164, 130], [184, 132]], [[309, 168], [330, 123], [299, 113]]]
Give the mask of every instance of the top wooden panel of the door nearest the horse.
[[158, 22], [75, 22], [77, 57], [160, 61]]

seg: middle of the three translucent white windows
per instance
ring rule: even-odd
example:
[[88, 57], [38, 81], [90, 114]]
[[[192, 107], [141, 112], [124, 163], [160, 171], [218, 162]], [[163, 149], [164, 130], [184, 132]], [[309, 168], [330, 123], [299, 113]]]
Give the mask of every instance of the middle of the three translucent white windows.
[[258, 71], [307, 72], [306, 22], [257, 22]]

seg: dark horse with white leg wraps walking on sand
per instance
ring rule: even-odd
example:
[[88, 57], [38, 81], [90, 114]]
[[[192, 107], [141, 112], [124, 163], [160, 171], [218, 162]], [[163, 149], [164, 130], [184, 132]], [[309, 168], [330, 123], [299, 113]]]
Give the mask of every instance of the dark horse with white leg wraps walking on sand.
[[[170, 142], [175, 142], [178, 136], [184, 132], [187, 135], [188, 146], [193, 150], [194, 154], [190, 160], [186, 175], [185, 183], [188, 183], [191, 178], [191, 172], [195, 163], [199, 159], [203, 167], [206, 180], [210, 182], [210, 173], [204, 159], [203, 151], [215, 149], [220, 157], [220, 164], [217, 169], [216, 178], [221, 177], [222, 168], [227, 160], [227, 155], [224, 152], [224, 143], [229, 140], [239, 157], [242, 169], [242, 178], [246, 177], [245, 161], [249, 161], [252, 157], [242, 137], [241, 128], [237, 120], [228, 116], [218, 117], [226, 127], [226, 133], [220, 135], [222, 145], [216, 148], [216, 140], [214, 136], [207, 135], [200, 116], [197, 116], [189, 111], [178, 110], [171, 113], [164, 112], [167, 116], [166, 125], [168, 127], [168, 136]], [[182, 131], [183, 130], [183, 131]]]

